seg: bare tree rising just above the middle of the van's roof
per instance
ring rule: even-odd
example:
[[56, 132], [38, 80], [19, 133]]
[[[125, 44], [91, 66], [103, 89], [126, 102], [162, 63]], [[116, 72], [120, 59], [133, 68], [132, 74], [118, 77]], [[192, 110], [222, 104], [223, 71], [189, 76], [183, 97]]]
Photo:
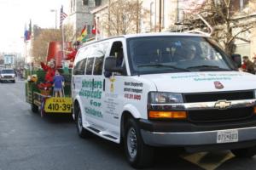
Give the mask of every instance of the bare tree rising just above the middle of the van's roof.
[[109, 36], [136, 33], [139, 31], [142, 3], [138, 0], [111, 1], [108, 4], [102, 26], [108, 30]]

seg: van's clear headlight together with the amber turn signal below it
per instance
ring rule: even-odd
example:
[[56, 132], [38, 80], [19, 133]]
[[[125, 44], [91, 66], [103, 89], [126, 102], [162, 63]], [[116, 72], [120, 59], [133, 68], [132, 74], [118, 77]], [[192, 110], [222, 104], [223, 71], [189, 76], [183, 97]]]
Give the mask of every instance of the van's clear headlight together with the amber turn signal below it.
[[[169, 92], [148, 93], [148, 105], [183, 103], [183, 95]], [[148, 107], [148, 119], [186, 119], [187, 111], [166, 111], [164, 107]]]

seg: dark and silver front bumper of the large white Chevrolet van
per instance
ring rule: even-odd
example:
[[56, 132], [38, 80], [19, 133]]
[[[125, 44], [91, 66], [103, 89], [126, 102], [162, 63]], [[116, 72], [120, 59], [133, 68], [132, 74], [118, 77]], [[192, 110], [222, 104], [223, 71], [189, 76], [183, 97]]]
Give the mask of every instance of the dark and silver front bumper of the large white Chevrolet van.
[[[143, 142], [152, 146], [206, 146], [221, 145], [229, 148], [229, 144], [218, 143], [219, 131], [237, 130], [238, 141], [234, 142], [238, 148], [245, 147], [244, 142], [256, 145], [256, 119], [241, 122], [218, 122], [216, 124], [197, 125], [189, 122], [153, 122], [145, 119], [139, 121]], [[214, 129], [214, 130], [213, 130]]]

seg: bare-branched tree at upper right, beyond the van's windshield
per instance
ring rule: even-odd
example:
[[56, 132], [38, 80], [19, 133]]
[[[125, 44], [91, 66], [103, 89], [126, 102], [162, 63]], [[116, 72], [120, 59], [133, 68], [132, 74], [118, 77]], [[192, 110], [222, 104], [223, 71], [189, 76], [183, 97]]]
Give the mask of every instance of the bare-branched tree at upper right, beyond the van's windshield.
[[[251, 2], [255, 3], [256, 1], [251, 0]], [[184, 23], [189, 29], [203, 27], [200, 20], [195, 20], [195, 17], [192, 19], [193, 15], [191, 14], [195, 14], [196, 10], [213, 27], [212, 37], [223, 46], [226, 53], [232, 54], [236, 50], [236, 40], [250, 42], [241, 35], [250, 32], [256, 23], [255, 20], [250, 19], [251, 11], [241, 11], [239, 5], [239, 1], [236, 0], [207, 0], [200, 7], [197, 6], [196, 9], [189, 11], [187, 8]]]

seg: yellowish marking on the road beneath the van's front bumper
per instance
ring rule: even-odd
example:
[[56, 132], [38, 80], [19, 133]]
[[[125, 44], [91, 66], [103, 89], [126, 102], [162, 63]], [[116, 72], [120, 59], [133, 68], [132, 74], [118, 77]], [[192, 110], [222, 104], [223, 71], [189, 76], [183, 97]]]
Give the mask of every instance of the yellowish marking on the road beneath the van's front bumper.
[[207, 170], [214, 170], [233, 157], [234, 155], [230, 151], [186, 153], [181, 155], [184, 160]]

